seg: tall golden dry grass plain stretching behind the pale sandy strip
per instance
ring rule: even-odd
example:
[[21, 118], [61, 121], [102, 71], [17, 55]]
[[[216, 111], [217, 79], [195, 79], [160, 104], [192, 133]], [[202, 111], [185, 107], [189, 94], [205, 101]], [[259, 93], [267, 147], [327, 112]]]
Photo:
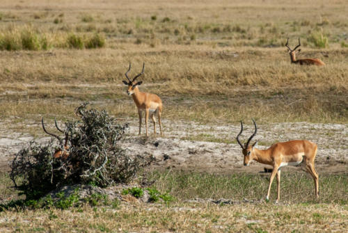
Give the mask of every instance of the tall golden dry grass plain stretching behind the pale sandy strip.
[[[171, 120], [347, 122], [348, 50], [340, 47], [347, 16], [339, 1], [313, 3], [4, 1], [2, 34], [30, 29], [52, 46], [1, 52], [0, 111], [7, 118], [23, 104], [47, 114], [53, 107], [38, 109], [42, 99], [58, 109], [89, 100], [135, 116], [121, 80], [129, 61], [132, 74], [145, 61], [141, 90], [160, 95]], [[105, 36], [106, 49], [59, 49], [68, 35], [95, 33]], [[325, 35], [329, 47], [316, 49], [312, 35]], [[291, 65], [287, 37], [301, 37], [299, 56], [326, 67]], [[58, 113], [66, 114], [72, 111]]]

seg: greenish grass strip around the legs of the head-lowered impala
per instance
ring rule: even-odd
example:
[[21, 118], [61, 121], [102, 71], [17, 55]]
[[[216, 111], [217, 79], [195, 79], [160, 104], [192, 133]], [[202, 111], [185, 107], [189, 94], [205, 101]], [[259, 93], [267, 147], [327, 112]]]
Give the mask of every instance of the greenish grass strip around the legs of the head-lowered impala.
[[[154, 172], [155, 187], [167, 190], [179, 200], [193, 198], [264, 199], [269, 174], [214, 175], [206, 173]], [[282, 172], [280, 200], [286, 202], [325, 202], [347, 204], [348, 175], [320, 175], [319, 199], [315, 198], [313, 179], [303, 172]], [[271, 188], [271, 202], [276, 200], [276, 181]]]

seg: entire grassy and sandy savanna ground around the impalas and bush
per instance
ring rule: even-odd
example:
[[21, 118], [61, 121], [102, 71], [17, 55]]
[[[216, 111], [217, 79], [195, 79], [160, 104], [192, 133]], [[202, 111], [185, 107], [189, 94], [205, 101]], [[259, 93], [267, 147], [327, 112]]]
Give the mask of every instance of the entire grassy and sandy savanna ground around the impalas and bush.
[[[152, 186], [170, 203], [0, 213], [1, 232], [345, 232], [348, 227], [347, 1], [29, 1], [0, 6], [1, 202], [17, 198], [8, 161], [46, 137], [45, 116], [74, 118], [90, 102], [129, 122], [129, 153], [154, 154]], [[290, 64], [284, 47], [301, 38]], [[164, 134], [137, 136], [122, 79], [164, 102]], [[280, 204], [262, 201], [263, 166], [242, 166], [239, 120], [260, 148], [291, 139], [318, 144], [320, 198], [298, 168], [282, 174]], [[143, 128], [143, 132], [145, 129]], [[150, 124], [152, 132], [152, 124]], [[156, 146], [157, 145], [157, 146]], [[276, 182], [274, 182], [276, 183]], [[209, 201], [229, 198], [232, 204]], [[260, 201], [261, 200], [261, 201]]]

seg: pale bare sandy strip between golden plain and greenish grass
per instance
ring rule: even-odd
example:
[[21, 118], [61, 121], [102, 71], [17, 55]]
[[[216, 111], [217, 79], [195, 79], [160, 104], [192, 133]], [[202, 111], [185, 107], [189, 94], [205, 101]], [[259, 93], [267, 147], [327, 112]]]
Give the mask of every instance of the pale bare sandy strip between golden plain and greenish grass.
[[[243, 166], [242, 150], [235, 143], [240, 125], [199, 124], [196, 122], [171, 122], [164, 120], [164, 137], [152, 134], [152, 123], [149, 125], [150, 137], [146, 138], [145, 127], [142, 136], [138, 135], [138, 120], [126, 119], [129, 122], [127, 137], [120, 144], [127, 148], [129, 154], [152, 154], [156, 161], [154, 168], [196, 172], [261, 172], [264, 166], [253, 162], [251, 166]], [[36, 127], [39, 122], [28, 122], [26, 127]], [[11, 129], [12, 128], [12, 129]], [[38, 128], [39, 129], [39, 128]], [[0, 169], [8, 170], [13, 156], [26, 147], [33, 136], [22, 133], [21, 127], [14, 127], [6, 122], [0, 124]], [[159, 129], [157, 129], [159, 131]], [[253, 132], [251, 122], [244, 123], [242, 139], [247, 140]], [[40, 133], [41, 134], [41, 133]], [[42, 134], [43, 136], [44, 134]], [[187, 138], [205, 138], [203, 140], [224, 141], [234, 143], [214, 143], [203, 140], [187, 140]], [[258, 135], [264, 149], [272, 143], [292, 139], [307, 139], [318, 145], [315, 159], [319, 173], [348, 172], [348, 127], [346, 124], [313, 124], [308, 122], [258, 124]], [[35, 138], [47, 140], [48, 138]], [[285, 168], [299, 170], [300, 168]]]

